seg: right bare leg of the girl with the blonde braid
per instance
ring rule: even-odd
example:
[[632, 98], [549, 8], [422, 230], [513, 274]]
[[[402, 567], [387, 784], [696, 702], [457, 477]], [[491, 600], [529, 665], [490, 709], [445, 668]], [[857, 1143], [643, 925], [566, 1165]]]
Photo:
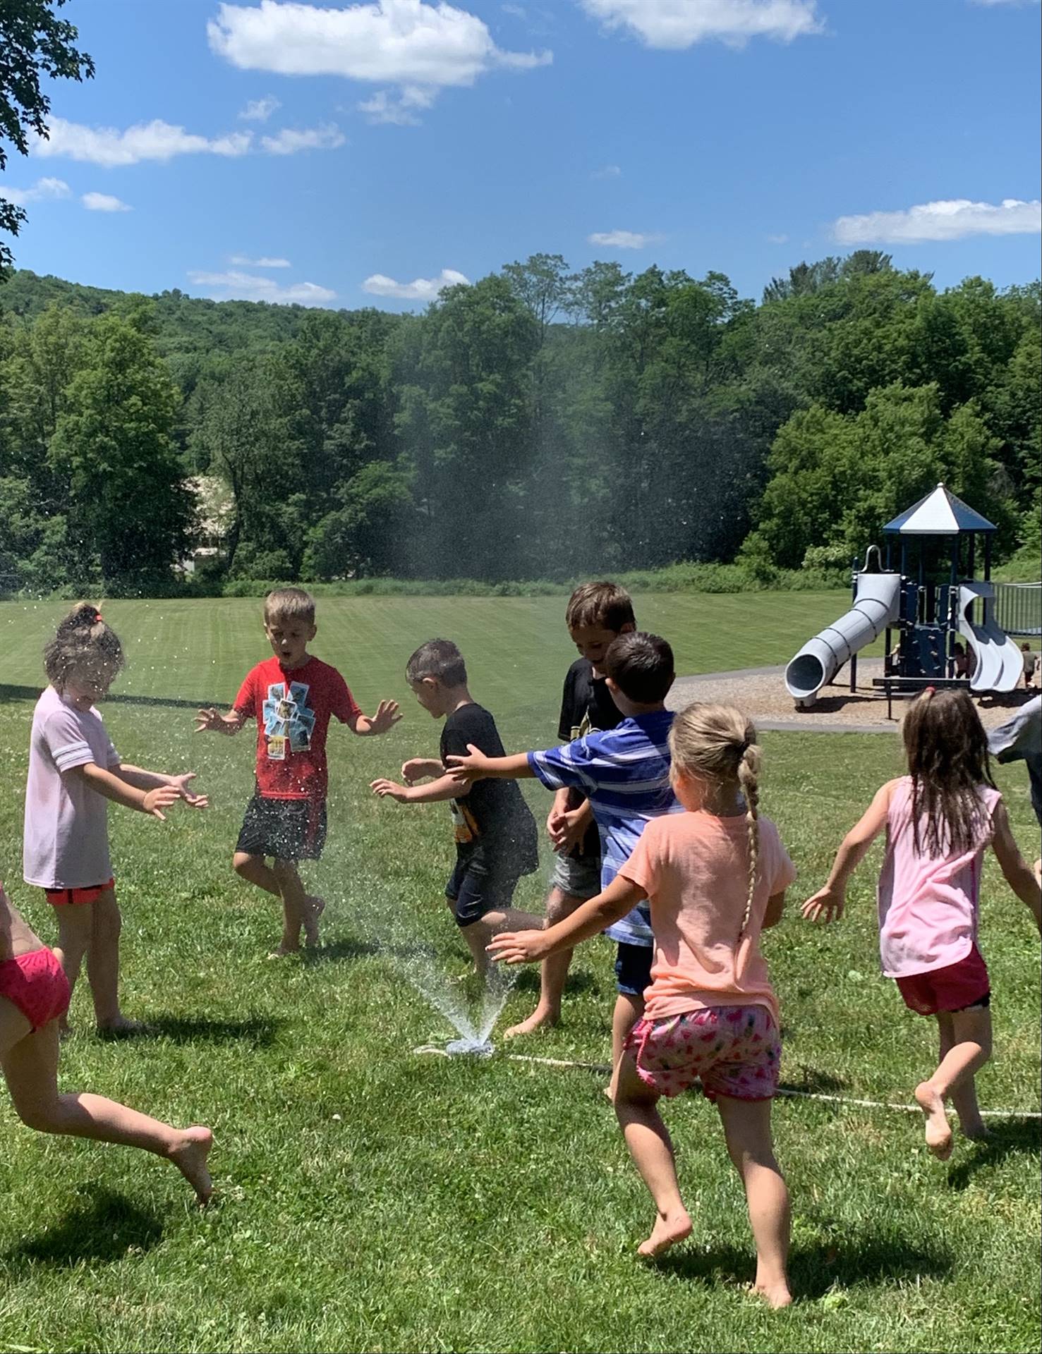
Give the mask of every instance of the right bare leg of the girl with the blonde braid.
[[756, 1292], [771, 1307], [789, 1307], [789, 1190], [775, 1160], [771, 1140], [771, 1102], [721, 1095], [728, 1152], [745, 1186], [749, 1223], [756, 1242]]

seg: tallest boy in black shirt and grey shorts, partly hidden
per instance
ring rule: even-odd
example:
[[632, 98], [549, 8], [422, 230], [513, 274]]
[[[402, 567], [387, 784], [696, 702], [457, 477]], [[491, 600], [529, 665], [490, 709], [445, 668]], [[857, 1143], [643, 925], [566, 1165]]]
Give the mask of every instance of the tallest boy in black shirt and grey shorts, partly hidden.
[[[557, 737], [562, 743], [570, 743], [585, 734], [602, 733], [622, 723], [622, 711], [607, 688], [604, 653], [612, 639], [634, 631], [637, 623], [633, 601], [623, 588], [593, 582], [583, 584], [572, 593], [565, 624], [581, 654], [565, 676], [557, 723]], [[600, 833], [581, 789], [564, 787], [554, 793], [546, 831], [557, 853], [546, 898], [546, 925], [551, 926], [600, 892]], [[507, 1030], [505, 1039], [557, 1024], [570, 963], [570, 951], [545, 960], [539, 971], [538, 1005], [527, 1020]]]

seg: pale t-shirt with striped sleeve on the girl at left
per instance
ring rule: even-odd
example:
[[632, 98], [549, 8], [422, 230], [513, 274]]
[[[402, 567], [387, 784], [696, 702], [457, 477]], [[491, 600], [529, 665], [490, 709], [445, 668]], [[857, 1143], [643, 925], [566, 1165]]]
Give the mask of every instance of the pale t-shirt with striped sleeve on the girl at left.
[[76, 709], [47, 686], [33, 712], [26, 784], [23, 877], [41, 888], [91, 888], [112, 877], [108, 800], [73, 766], [119, 765], [102, 716]]

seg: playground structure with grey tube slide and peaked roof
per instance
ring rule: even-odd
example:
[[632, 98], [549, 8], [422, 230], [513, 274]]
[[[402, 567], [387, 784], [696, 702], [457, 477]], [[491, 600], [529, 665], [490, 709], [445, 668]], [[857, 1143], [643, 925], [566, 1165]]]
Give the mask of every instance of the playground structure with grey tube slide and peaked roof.
[[[1023, 658], [1011, 635], [1042, 635], [1042, 585], [991, 581], [993, 523], [938, 485], [886, 523], [886, 567], [870, 546], [854, 570], [851, 609], [808, 640], [791, 659], [785, 684], [797, 708], [806, 708], [850, 662], [856, 689], [858, 653], [885, 634], [881, 686], [894, 692], [925, 685], [967, 686], [974, 693], [1011, 692]], [[974, 578], [977, 536], [984, 538], [984, 578]], [[900, 567], [893, 569], [894, 540]], [[894, 630], [897, 643], [894, 645]], [[962, 635], [967, 653], [957, 654]]]

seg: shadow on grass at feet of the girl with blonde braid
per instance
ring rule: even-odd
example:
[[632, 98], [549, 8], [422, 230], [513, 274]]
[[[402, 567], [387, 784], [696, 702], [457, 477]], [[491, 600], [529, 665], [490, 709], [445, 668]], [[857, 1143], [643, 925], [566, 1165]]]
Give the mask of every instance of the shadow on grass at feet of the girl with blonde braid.
[[[751, 1240], [747, 1250], [734, 1246], [676, 1250], [650, 1263], [678, 1278], [748, 1284], [756, 1270], [756, 1254]], [[951, 1270], [951, 1263], [944, 1250], [916, 1246], [893, 1232], [864, 1232], [835, 1242], [797, 1244], [789, 1261], [789, 1285], [797, 1301], [813, 1301], [835, 1288], [864, 1288], [896, 1278], [940, 1278]]]

